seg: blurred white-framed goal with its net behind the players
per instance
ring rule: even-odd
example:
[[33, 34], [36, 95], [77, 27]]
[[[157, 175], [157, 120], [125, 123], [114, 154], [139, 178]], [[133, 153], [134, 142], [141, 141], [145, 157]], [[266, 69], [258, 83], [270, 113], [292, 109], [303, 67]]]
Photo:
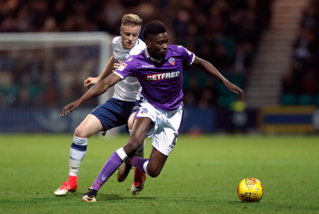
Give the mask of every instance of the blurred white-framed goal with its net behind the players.
[[[36, 109], [38, 112], [44, 110], [43, 115], [50, 115], [80, 98], [88, 90], [83, 81], [97, 77], [105, 68], [111, 56], [111, 42], [112, 36], [103, 32], [0, 33], [0, 132], [14, 132], [14, 127], [6, 125], [16, 119], [12, 114], [7, 118], [12, 111], [24, 110], [32, 114]], [[81, 108], [92, 110], [112, 93], [110, 90]], [[71, 119], [70, 129], [79, 125], [79, 120], [86, 115], [79, 117], [77, 114], [79, 119]], [[16, 127], [19, 129], [18, 125]], [[42, 131], [65, 129], [45, 128]]]

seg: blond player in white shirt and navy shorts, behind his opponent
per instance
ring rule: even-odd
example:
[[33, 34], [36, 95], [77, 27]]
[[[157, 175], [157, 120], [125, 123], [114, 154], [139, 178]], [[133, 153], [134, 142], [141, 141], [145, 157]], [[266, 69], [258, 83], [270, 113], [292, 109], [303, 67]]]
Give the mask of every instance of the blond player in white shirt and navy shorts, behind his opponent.
[[[146, 48], [145, 43], [138, 39], [141, 25], [142, 19], [139, 16], [135, 14], [126, 14], [123, 16], [120, 27], [121, 36], [117, 36], [113, 39], [113, 55], [109, 59], [106, 68], [98, 77], [89, 77], [84, 80], [84, 86], [90, 87], [91, 84], [96, 84], [105, 79], [113, 70], [118, 68], [123, 61], [129, 60], [131, 55], [139, 54]], [[127, 124], [129, 132], [131, 132], [133, 118], [137, 109], [138, 100], [140, 99], [140, 91], [141, 85], [135, 77], [129, 77], [124, 81], [118, 82], [118, 84], [115, 84], [113, 97], [103, 105], [96, 107], [80, 123], [75, 130], [70, 148], [68, 181], [54, 191], [55, 195], [66, 195], [69, 191], [75, 192], [77, 190], [79, 169], [86, 153], [88, 137], [98, 132], [105, 132], [111, 128], [125, 124]], [[145, 141], [136, 151], [136, 156], [144, 157], [144, 146]], [[125, 167], [121, 169], [123, 170]], [[132, 186], [133, 193], [143, 189], [145, 179], [145, 173], [135, 169]], [[121, 182], [121, 180], [119, 180], [119, 182]]]

